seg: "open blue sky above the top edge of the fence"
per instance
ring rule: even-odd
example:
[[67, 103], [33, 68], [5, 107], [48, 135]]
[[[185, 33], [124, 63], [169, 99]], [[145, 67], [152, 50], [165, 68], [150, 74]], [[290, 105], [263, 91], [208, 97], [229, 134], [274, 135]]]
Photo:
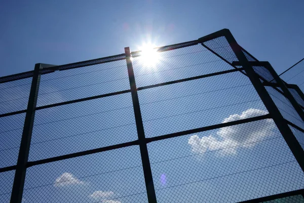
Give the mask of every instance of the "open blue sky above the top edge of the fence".
[[229, 28], [278, 73], [304, 57], [303, 1], [5, 1], [0, 7], [0, 76], [156, 45]]

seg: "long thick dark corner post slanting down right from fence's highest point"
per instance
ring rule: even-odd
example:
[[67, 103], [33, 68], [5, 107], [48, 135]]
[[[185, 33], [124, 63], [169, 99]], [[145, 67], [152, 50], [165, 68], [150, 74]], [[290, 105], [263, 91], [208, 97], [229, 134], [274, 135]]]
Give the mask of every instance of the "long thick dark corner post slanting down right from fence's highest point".
[[230, 30], [224, 30], [224, 36], [227, 42], [230, 44], [232, 50], [234, 51], [236, 57], [238, 58], [240, 65], [243, 66], [248, 78], [250, 79], [252, 85], [254, 86], [255, 90], [257, 91], [258, 95], [260, 96], [262, 102], [264, 103], [265, 107], [267, 108], [268, 112], [272, 115], [272, 118], [277, 125], [278, 129], [280, 130], [285, 142], [287, 143], [288, 147], [290, 148], [292, 154], [294, 155], [295, 159], [297, 160], [298, 164], [300, 165], [302, 171], [304, 172], [304, 151], [301, 148], [300, 144], [297, 142], [296, 138], [294, 137], [291, 129], [289, 128], [287, 122], [283, 118], [281, 112], [279, 111], [278, 107], [274, 103], [273, 99], [261, 83], [258, 75], [254, 72], [252, 66], [250, 65], [249, 61], [247, 60], [245, 54], [243, 53], [241, 47], [236, 42], [235, 38], [233, 37]]

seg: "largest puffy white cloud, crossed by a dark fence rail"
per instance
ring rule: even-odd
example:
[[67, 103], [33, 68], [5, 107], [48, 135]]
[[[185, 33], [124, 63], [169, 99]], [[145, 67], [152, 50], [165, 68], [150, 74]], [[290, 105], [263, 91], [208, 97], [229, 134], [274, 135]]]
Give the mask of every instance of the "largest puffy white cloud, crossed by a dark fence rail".
[[[258, 109], [248, 109], [241, 115], [234, 114], [225, 118], [222, 123], [231, 121], [256, 117], [268, 114], [266, 111]], [[188, 140], [188, 144], [191, 145], [194, 153], [205, 153], [207, 150], [216, 152], [217, 155], [233, 155], [237, 153], [237, 147], [254, 147], [256, 142], [262, 140], [265, 137], [273, 134], [275, 124], [272, 119], [264, 119], [258, 121], [257, 124], [244, 123], [241, 125], [233, 125], [229, 127], [220, 128], [216, 134], [220, 139], [216, 139], [214, 136], [205, 136], [201, 139], [197, 136], [191, 136]]]

